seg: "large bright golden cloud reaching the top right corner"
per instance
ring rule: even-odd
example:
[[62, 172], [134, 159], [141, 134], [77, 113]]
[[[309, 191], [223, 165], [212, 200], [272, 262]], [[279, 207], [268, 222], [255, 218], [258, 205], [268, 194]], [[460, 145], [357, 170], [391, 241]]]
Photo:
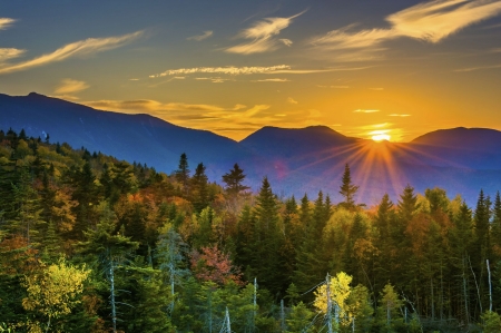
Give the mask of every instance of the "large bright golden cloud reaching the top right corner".
[[356, 25], [350, 25], [316, 37], [312, 43], [326, 50], [374, 50], [382, 42], [400, 37], [436, 43], [468, 26], [499, 13], [500, 0], [434, 0], [390, 14], [386, 17], [391, 25], [387, 29], [354, 31]]

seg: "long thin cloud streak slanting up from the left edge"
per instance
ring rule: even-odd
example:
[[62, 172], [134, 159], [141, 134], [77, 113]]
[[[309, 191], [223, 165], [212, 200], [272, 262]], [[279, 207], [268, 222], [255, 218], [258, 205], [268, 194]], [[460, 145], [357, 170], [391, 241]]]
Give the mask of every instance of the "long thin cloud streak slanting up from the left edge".
[[43, 66], [50, 62], [62, 61], [71, 57], [90, 56], [94, 53], [116, 49], [134, 41], [141, 35], [143, 31], [137, 31], [134, 33], [117, 37], [89, 38], [86, 40], [76, 41], [66, 45], [51, 53], [40, 56], [32, 60], [2, 66], [0, 67], [0, 75], [18, 70], [26, 70], [32, 67]]

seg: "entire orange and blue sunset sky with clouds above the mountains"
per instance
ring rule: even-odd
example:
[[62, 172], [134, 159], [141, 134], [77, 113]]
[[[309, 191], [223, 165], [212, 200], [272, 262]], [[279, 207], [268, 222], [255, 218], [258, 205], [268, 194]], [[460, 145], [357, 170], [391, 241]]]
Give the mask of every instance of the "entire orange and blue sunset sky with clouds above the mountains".
[[501, 130], [501, 0], [2, 1], [0, 92], [31, 91], [235, 140]]

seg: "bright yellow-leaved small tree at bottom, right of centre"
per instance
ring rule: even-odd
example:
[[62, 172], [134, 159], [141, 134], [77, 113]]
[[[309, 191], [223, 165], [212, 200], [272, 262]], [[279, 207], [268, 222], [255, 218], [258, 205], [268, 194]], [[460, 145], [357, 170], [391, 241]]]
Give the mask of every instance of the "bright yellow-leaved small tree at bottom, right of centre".
[[[352, 320], [350, 306], [346, 303], [351, 293], [350, 283], [352, 283], [352, 276], [344, 272], [340, 272], [335, 277], [331, 278], [331, 301], [333, 308], [336, 311], [336, 316], [344, 325], [348, 324]], [[327, 313], [327, 286], [325, 284], [321, 285], [314, 294], [315, 301], [313, 305], [322, 313]]]

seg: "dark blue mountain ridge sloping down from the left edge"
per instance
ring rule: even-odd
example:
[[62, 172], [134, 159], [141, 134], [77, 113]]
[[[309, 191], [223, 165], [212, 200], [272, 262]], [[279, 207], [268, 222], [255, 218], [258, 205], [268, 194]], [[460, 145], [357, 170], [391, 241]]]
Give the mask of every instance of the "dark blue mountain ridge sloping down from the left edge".
[[100, 111], [36, 92], [0, 94], [0, 128], [10, 127], [18, 133], [24, 128], [33, 137], [49, 134], [52, 143], [146, 163], [167, 173], [177, 168], [183, 153], [193, 169], [203, 161], [214, 177], [216, 173], [220, 177], [219, 167], [227, 170], [235, 159], [249, 155], [238, 143], [207, 130], [179, 127], [149, 115]]

